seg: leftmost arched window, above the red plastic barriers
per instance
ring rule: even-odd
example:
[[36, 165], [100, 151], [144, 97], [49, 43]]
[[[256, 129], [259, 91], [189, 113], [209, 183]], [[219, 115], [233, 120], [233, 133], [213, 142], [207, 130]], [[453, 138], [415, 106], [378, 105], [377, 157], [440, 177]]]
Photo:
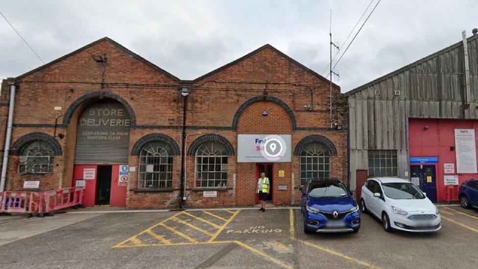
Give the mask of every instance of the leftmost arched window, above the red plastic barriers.
[[54, 151], [46, 141], [35, 140], [20, 151], [18, 172], [22, 174], [45, 174], [53, 172]]

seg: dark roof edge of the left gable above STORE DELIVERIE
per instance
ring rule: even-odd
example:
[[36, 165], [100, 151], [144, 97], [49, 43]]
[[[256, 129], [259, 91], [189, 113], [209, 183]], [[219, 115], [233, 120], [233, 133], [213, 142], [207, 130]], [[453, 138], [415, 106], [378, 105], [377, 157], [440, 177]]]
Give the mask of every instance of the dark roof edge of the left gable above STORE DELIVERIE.
[[150, 61], [144, 59], [143, 57], [141, 57], [140, 55], [134, 53], [133, 51], [131, 51], [131, 50], [129, 50], [129, 49], [126, 49], [125, 47], [123, 47], [123, 46], [122, 46], [121, 44], [119, 44], [118, 42], [116, 42], [116, 41], [114, 41], [113, 39], [111, 39], [111, 38], [109, 38], [109, 37], [106, 37], [106, 36], [103, 37], [103, 38], [100, 38], [100, 39], [98, 39], [98, 40], [96, 40], [96, 41], [94, 41], [94, 42], [92, 42], [92, 43], [90, 43], [90, 44], [88, 44], [88, 45], [86, 45], [86, 46], [84, 46], [84, 47], [81, 47], [81, 48], [79, 48], [79, 49], [76, 49], [76, 50], [74, 50], [73, 52], [70, 52], [70, 53], [68, 53], [68, 54], [66, 54], [66, 55], [64, 55], [64, 56], [62, 56], [62, 57], [60, 57], [60, 58], [58, 58], [58, 59], [56, 59], [56, 60], [53, 60], [53, 61], [51, 61], [51, 62], [49, 62], [49, 63], [47, 63], [47, 64], [44, 64], [44, 65], [42, 65], [42, 66], [40, 66], [40, 67], [38, 67], [38, 68], [35, 68], [35, 69], [31, 70], [31, 71], [28, 71], [28, 72], [26, 72], [26, 73], [24, 73], [24, 74], [21, 74], [21, 75], [15, 77], [15, 79], [21, 79], [21, 78], [23, 78], [24, 76], [27, 76], [27, 75], [29, 75], [29, 74], [31, 74], [31, 73], [35, 73], [35, 72], [37, 72], [37, 71], [39, 71], [39, 70], [41, 70], [41, 69], [43, 69], [43, 68], [46, 68], [46, 67], [48, 67], [48, 66], [50, 66], [50, 65], [52, 65], [52, 64], [58, 63], [58, 62], [60, 62], [60, 61], [62, 61], [62, 60], [64, 60], [64, 59], [66, 59], [66, 58], [72, 56], [72, 55], [75, 54], [75, 53], [78, 53], [78, 52], [80, 52], [80, 51], [82, 51], [82, 50], [88, 49], [88, 48], [90, 48], [90, 47], [92, 47], [92, 46], [94, 46], [94, 45], [96, 45], [96, 44], [98, 44], [98, 43], [100, 43], [100, 42], [103, 42], [103, 41], [108, 41], [109, 43], [115, 45], [115, 46], [118, 47], [119, 49], [124, 50], [126, 53], [133, 55], [136, 59], [142, 61], [142, 62], [145, 63], [146, 65], [149, 65], [149, 66], [151, 66], [152, 68], [158, 70], [159, 72], [166, 74], [166, 75], [169, 76], [170, 78], [172, 78], [172, 79], [174, 79], [174, 80], [176, 80], [176, 81], [181, 81], [181, 80], [180, 80], [179, 78], [177, 78], [176, 76], [172, 75], [171, 73], [168, 73], [166, 70], [160, 68], [159, 66], [156, 66], [155, 64], [153, 64], [153, 63], [151, 63]]

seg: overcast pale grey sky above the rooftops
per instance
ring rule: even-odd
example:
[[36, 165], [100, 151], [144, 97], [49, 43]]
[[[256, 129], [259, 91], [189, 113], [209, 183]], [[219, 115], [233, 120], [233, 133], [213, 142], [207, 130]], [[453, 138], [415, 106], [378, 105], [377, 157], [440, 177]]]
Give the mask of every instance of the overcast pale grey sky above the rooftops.
[[[109, 36], [193, 79], [267, 43], [326, 75], [330, 9], [333, 39], [342, 46], [370, 1], [0, 0], [0, 11], [45, 62]], [[452, 45], [462, 30], [471, 35], [478, 27], [477, 11], [476, 0], [382, 0], [337, 65], [334, 82], [347, 92]], [[3, 18], [0, 40], [1, 78], [42, 65]]]

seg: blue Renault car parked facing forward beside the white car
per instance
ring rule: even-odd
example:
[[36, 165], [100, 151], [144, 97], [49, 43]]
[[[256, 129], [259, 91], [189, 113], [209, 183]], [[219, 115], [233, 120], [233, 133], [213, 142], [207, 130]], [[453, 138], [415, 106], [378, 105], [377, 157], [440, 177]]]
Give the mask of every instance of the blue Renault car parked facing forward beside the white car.
[[338, 179], [309, 179], [301, 187], [304, 233], [358, 232], [358, 204]]

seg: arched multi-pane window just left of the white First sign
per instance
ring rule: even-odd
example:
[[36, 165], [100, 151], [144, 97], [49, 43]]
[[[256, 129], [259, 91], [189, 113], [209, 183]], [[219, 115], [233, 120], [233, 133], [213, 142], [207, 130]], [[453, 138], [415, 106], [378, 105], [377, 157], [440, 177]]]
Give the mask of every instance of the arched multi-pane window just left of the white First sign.
[[195, 186], [197, 188], [226, 187], [226, 147], [217, 142], [205, 142], [196, 151]]

